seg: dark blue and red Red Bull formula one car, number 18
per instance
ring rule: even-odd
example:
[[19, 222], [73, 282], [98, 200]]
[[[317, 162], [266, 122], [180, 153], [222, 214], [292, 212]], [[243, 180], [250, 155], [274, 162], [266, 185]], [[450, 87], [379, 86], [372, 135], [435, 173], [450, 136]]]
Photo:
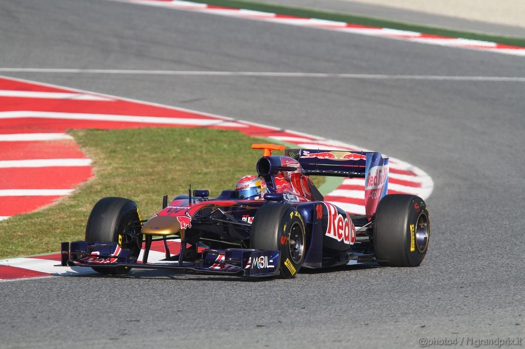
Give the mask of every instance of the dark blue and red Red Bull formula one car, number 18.
[[[61, 265], [113, 275], [150, 268], [292, 278], [300, 268], [421, 264], [430, 235], [428, 210], [415, 195], [386, 194], [388, 158], [319, 149], [272, 156], [272, 150], [285, 147], [252, 148], [264, 150], [257, 161], [259, 177], [245, 178], [216, 198], [209, 198], [208, 190], [190, 189], [168, 204], [164, 195], [162, 210], [147, 221], [131, 200], [99, 200], [85, 241], [62, 243]], [[364, 178], [365, 215], [349, 215], [324, 201], [309, 178], [315, 175]], [[170, 239], [180, 239], [175, 254]], [[157, 240], [163, 241], [165, 258], [149, 263]]]

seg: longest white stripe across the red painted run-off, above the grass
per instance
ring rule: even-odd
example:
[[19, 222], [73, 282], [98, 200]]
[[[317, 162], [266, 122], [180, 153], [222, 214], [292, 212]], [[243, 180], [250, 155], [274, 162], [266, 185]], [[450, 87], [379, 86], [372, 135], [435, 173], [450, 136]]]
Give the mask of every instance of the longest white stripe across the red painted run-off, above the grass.
[[132, 115], [111, 115], [111, 114], [83, 114], [83, 113], [56, 113], [56, 112], [35, 112], [35, 111], [15, 111], [0, 112], [0, 119], [13, 119], [23, 117], [34, 117], [44, 119], [67, 119], [67, 120], [89, 120], [89, 121], [116, 121], [129, 123], [146, 124], [166, 124], [166, 125], [196, 125], [196, 126], [225, 126], [232, 128], [246, 127], [235, 122], [225, 122], [217, 119], [191, 119], [176, 117], [159, 116], [132, 116]]

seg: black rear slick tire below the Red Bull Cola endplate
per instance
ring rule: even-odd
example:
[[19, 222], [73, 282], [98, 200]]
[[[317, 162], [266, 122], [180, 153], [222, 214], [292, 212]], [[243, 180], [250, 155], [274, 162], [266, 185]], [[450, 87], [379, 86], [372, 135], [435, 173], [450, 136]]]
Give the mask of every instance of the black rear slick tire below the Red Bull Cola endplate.
[[415, 195], [386, 195], [377, 206], [373, 238], [380, 265], [417, 267], [425, 258], [430, 238], [425, 201]]

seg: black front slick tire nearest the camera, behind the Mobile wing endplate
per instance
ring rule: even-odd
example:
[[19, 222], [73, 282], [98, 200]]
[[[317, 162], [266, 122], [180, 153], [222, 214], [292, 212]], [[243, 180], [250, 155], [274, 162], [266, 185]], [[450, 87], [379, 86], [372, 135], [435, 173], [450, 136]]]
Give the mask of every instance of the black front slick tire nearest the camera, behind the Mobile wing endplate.
[[278, 250], [280, 277], [295, 277], [304, 261], [306, 236], [299, 212], [290, 205], [267, 203], [251, 224], [250, 248]]

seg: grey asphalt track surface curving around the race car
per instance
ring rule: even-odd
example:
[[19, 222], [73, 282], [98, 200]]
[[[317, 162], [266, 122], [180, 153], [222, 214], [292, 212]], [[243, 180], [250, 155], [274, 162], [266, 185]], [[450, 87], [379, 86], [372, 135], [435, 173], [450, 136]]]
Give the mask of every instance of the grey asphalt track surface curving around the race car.
[[[0, 33], [8, 68], [525, 77], [525, 60], [504, 54], [103, 0], [0, 1]], [[417, 347], [421, 337], [523, 336], [522, 81], [2, 74], [349, 141], [434, 179], [418, 268], [3, 282], [2, 347]]]

